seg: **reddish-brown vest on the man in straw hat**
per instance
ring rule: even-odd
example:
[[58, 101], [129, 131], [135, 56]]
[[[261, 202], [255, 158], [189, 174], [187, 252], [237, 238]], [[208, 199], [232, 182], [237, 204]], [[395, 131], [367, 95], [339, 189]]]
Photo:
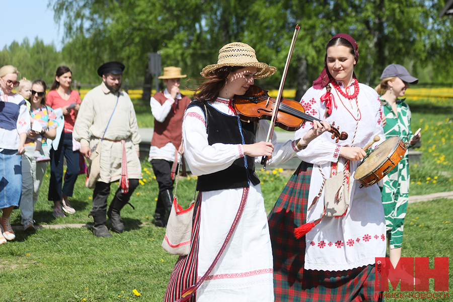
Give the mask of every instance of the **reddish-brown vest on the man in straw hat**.
[[[173, 108], [170, 109], [170, 112], [163, 123], [156, 121], [156, 119], [154, 120], [154, 134], [153, 139], [151, 140], [151, 145], [162, 148], [171, 142], [176, 149], [178, 149], [181, 145], [184, 112], [191, 102], [188, 96], [182, 94], [181, 96], [182, 98], [178, 100], [178, 105], [176, 106], [176, 112], [173, 111]], [[161, 105], [163, 105], [167, 100], [164, 92], [158, 92], [153, 95], [153, 97]]]

